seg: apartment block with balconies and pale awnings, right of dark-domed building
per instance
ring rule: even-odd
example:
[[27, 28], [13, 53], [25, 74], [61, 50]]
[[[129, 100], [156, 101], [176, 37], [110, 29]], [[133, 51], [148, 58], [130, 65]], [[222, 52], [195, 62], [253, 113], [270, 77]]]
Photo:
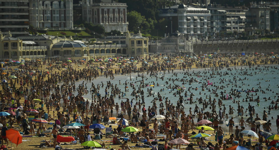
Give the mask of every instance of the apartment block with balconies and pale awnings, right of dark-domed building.
[[220, 32], [244, 32], [246, 7], [208, 6], [210, 10], [210, 32], [211, 35]]

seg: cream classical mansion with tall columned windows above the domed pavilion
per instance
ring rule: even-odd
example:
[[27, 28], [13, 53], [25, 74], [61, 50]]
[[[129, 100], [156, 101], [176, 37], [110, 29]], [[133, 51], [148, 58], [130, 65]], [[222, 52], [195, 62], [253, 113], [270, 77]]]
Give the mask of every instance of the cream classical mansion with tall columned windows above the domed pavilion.
[[128, 31], [126, 8], [126, 3], [82, 0], [83, 20], [93, 24], [101, 24], [106, 32], [111, 30]]

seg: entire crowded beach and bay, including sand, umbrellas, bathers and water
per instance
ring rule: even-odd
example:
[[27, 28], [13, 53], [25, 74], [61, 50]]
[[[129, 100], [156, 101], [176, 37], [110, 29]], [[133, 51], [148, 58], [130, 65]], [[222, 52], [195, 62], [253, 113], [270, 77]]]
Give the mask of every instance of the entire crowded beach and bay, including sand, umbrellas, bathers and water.
[[274, 53], [0, 63], [0, 149], [278, 149]]

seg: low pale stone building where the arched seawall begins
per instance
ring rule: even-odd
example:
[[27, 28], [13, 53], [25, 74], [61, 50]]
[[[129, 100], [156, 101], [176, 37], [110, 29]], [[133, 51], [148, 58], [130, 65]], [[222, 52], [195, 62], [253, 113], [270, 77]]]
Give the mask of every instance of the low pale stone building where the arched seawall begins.
[[150, 53], [176, 53], [192, 56], [193, 44], [181, 33], [173, 33], [160, 41], [151, 40], [149, 43]]

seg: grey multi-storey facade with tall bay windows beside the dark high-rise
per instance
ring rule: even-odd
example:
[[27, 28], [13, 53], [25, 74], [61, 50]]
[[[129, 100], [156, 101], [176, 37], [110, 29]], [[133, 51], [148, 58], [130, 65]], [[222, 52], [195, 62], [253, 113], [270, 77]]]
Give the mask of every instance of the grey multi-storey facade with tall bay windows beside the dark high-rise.
[[35, 28], [72, 28], [73, 0], [30, 0], [30, 25]]

